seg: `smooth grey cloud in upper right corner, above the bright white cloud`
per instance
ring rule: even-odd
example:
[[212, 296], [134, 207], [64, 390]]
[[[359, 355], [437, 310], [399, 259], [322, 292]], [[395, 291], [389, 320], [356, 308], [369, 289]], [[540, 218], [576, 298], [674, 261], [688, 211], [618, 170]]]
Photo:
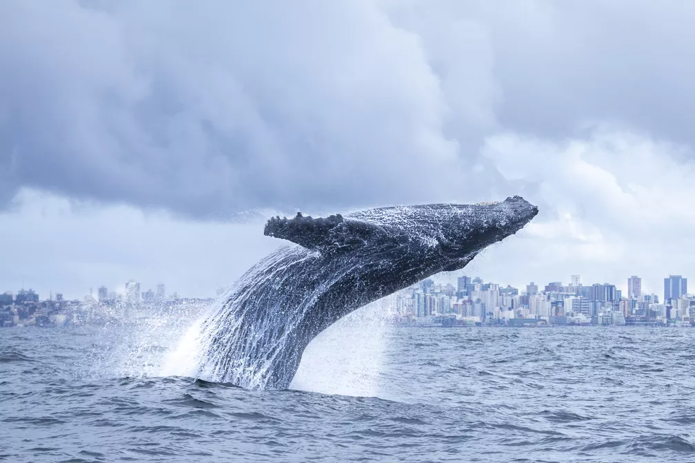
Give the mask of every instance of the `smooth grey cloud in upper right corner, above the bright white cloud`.
[[[421, 8], [426, 8], [420, 3]], [[554, 140], [611, 121], [693, 144], [695, 3], [648, 0], [439, 3], [484, 24], [499, 123]], [[453, 12], [457, 11], [457, 12]]]

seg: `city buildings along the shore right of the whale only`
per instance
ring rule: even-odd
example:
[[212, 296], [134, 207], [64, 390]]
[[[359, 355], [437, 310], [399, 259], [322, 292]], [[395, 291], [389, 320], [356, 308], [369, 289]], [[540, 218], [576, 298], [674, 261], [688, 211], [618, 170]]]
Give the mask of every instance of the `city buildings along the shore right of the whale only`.
[[[611, 283], [582, 285], [578, 275], [569, 285], [531, 282], [525, 292], [479, 276], [459, 276], [456, 285], [428, 278], [398, 292], [395, 311], [401, 323], [414, 326], [695, 326], [695, 296], [684, 280], [664, 278], [667, 294], [660, 298], [641, 291], [634, 275], [628, 295]], [[678, 292], [667, 287], [671, 281]]]

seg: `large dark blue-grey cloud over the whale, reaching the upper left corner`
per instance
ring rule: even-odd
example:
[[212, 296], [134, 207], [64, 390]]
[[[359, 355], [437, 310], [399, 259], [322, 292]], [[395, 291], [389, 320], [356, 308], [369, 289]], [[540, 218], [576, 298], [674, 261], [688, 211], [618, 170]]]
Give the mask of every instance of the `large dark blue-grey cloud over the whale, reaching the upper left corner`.
[[455, 81], [370, 1], [9, 1], [0, 17], [5, 200], [26, 186], [219, 219], [455, 196], [466, 156], [445, 124], [492, 117], [483, 101], [450, 119], [465, 95], [450, 108]]

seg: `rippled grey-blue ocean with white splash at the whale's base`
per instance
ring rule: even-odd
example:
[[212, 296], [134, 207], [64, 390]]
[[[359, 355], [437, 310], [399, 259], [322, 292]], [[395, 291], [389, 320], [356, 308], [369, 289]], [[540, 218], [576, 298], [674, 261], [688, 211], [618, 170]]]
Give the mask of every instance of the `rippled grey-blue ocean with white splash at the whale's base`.
[[695, 462], [692, 329], [395, 328], [358, 312], [286, 391], [186, 376], [186, 329], [0, 330], [0, 460]]

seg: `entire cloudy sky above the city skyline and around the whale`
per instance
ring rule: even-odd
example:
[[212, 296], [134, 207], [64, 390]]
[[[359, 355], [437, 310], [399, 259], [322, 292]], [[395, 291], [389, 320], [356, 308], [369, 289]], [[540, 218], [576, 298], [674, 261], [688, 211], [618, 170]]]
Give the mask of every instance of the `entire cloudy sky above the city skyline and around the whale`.
[[[212, 296], [270, 214], [502, 200], [465, 273], [695, 285], [695, 3], [0, 2], [0, 292]], [[453, 278], [454, 276], [445, 276]]]

